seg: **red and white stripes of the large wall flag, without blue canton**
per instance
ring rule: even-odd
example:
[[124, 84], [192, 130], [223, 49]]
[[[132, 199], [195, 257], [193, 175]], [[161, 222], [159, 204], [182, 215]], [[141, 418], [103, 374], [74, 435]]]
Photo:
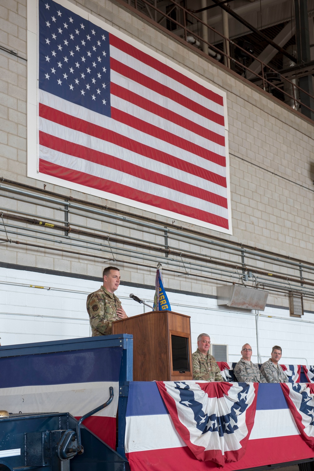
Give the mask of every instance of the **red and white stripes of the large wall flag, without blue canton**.
[[223, 97], [111, 33], [110, 68], [110, 118], [39, 90], [39, 171], [230, 229]]

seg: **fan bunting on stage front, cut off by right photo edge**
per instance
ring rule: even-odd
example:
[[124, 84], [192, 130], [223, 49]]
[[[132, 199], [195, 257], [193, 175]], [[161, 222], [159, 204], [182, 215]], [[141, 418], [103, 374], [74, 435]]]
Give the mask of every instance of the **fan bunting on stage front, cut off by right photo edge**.
[[281, 383], [281, 387], [302, 438], [314, 448], [314, 385]]

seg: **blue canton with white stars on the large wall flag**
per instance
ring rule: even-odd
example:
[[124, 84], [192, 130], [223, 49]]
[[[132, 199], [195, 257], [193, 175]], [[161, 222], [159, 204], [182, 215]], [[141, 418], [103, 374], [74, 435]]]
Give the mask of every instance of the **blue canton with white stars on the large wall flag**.
[[109, 33], [39, 0], [39, 88], [110, 116]]

